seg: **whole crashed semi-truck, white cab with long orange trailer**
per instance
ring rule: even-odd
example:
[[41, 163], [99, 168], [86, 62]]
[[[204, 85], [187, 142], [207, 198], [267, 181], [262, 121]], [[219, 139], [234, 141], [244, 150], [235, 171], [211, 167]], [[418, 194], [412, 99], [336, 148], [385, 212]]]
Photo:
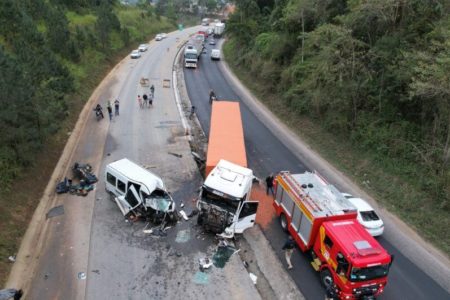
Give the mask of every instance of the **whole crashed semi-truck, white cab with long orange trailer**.
[[214, 101], [197, 223], [231, 238], [252, 227], [258, 202], [250, 199], [253, 171], [247, 168], [238, 102]]

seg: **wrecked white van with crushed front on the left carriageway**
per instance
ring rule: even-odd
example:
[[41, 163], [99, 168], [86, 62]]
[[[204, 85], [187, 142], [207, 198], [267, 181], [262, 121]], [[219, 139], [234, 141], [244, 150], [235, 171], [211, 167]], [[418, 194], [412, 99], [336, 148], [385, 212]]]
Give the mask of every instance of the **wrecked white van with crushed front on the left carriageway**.
[[105, 185], [126, 218], [154, 223], [176, 218], [175, 202], [162, 179], [127, 158], [106, 166]]

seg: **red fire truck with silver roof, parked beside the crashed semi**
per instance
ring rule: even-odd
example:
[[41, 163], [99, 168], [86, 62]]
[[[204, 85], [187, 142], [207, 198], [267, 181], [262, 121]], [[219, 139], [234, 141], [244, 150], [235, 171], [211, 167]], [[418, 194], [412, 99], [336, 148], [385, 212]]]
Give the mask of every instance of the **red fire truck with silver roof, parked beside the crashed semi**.
[[358, 223], [356, 208], [317, 173], [281, 172], [274, 207], [284, 230], [340, 299], [373, 299], [387, 283], [392, 257]]

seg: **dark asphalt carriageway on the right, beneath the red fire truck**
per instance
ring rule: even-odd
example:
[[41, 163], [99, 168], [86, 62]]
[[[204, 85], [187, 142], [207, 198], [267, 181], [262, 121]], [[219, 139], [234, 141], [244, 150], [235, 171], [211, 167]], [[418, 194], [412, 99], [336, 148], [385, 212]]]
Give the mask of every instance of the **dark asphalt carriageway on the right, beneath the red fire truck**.
[[[237, 87], [224, 76], [221, 62], [210, 60], [212, 48], [217, 46], [206, 45], [197, 69], [184, 69], [188, 94], [192, 104], [196, 106], [197, 117], [205, 133], [209, 133], [211, 114], [208, 93], [213, 89], [219, 100], [241, 103], [248, 164], [256, 176], [264, 178], [269, 173], [280, 170], [289, 170], [293, 173], [307, 171], [307, 163], [299, 160], [298, 156], [269, 130], [273, 125], [260, 121], [241, 100], [239, 97], [241, 93]], [[281, 230], [277, 219], [272, 221], [264, 234], [279, 259], [284, 262], [281, 247], [287, 236]], [[389, 253], [395, 255], [388, 285], [379, 299], [450, 299], [450, 294], [444, 288], [393, 245], [388, 232], [378, 238], [378, 241]], [[290, 274], [303, 295], [307, 299], [323, 299], [325, 291], [320, 285], [319, 274], [311, 267], [307, 255], [300, 251], [295, 252], [293, 264], [294, 269]]]

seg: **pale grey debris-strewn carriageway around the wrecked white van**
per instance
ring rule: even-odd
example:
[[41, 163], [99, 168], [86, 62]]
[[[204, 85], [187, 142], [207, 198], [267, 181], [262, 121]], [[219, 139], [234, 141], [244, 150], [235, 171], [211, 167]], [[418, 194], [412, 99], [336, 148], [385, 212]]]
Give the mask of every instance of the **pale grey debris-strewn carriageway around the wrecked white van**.
[[[52, 205], [64, 210], [38, 224], [42, 249], [29, 251], [35, 271], [30, 265], [30, 274], [12, 276], [21, 285], [31, 277], [26, 299], [260, 299], [238, 255], [200, 272], [199, 259], [213, 258], [218, 241], [195, 218], [181, 219], [167, 235], [148, 234], [143, 230], [154, 225], [126, 221], [105, 191], [105, 165], [127, 157], [161, 176], [178, 208], [193, 210], [202, 178], [172, 89], [177, 47], [192, 30], [152, 41], [140, 59], [125, 58], [91, 97], [88, 106], [119, 99], [120, 115], [97, 121], [88, 109], [68, 161], [92, 164], [100, 180], [86, 197], [51, 193]], [[138, 105], [137, 96], [149, 93], [139, 84], [143, 76], [155, 86], [152, 107]]]

